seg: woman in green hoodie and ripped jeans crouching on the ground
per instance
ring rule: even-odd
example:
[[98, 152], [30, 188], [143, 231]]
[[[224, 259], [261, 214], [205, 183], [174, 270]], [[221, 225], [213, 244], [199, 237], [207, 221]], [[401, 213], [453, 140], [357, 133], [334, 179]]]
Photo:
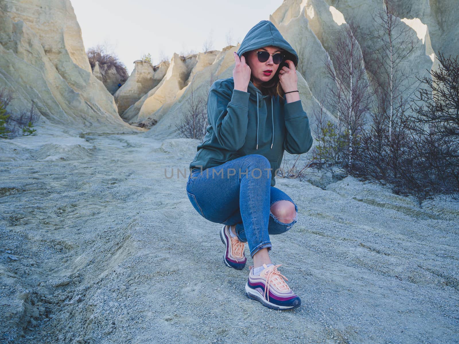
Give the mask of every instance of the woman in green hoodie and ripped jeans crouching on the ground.
[[284, 150], [302, 154], [313, 143], [298, 93], [298, 55], [274, 24], [263, 20], [249, 30], [234, 58], [233, 77], [215, 81], [209, 90], [209, 125], [190, 163], [186, 191], [202, 217], [223, 224], [226, 266], [242, 270], [248, 244], [254, 265], [246, 296], [289, 310], [301, 299], [268, 252], [269, 235], [297, 222], [297, 205], [274, 187]]

